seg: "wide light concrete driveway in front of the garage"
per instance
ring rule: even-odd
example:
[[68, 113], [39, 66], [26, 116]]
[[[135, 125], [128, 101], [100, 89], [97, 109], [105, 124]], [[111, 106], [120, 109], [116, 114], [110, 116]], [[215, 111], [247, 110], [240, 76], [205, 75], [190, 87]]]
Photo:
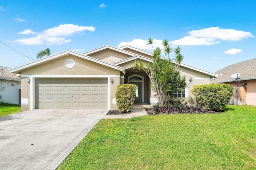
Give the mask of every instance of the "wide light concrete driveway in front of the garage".
[[56, 169], [106, 113], [36, 109], [0, 117], [0, 169]]

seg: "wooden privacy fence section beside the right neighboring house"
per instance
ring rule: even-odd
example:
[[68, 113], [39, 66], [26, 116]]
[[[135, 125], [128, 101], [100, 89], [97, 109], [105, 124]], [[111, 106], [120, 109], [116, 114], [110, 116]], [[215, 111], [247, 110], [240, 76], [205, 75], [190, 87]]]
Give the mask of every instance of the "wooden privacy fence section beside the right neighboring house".
[[246, 87], [234, 87], [233, 96], [228, 105], [246, 105]]

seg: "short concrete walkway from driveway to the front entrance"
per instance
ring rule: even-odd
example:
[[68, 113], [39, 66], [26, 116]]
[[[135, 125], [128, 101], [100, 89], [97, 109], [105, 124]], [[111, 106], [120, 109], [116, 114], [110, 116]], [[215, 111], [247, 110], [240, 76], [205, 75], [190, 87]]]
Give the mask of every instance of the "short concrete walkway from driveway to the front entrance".
[[134, 103], [130, 114], [106, 115], [103, 119], [118, 119], [118, 118], [126, 119], [126, 118], [148, 115], [148, 113], [146, 112], [146, 110], [144, 108], [149, 108], [149, 107], [150, 107], [150, 105], [148, 105], [147, 103]]

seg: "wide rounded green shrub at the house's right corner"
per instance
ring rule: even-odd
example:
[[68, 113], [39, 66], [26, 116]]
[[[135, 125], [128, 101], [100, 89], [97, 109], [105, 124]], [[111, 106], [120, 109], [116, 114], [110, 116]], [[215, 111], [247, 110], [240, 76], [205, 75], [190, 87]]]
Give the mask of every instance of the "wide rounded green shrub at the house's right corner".
[[195, 85], [192, 94], [204, 109], [222, 111], [233, 95], [233, 86], [219, 83]]

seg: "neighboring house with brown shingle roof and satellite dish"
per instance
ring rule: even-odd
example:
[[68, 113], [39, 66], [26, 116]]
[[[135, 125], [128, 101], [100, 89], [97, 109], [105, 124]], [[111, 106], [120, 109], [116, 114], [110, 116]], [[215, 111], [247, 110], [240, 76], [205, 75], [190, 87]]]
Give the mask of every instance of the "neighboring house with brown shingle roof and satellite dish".
[[[231, 104], [256, 105], [256, 58], [229, 65], [216, 74], [219, 77], [211, 83], [226, 83], [234, 87]], [[238, 79], [235, 78], [237, 75], [240, 75]]]

